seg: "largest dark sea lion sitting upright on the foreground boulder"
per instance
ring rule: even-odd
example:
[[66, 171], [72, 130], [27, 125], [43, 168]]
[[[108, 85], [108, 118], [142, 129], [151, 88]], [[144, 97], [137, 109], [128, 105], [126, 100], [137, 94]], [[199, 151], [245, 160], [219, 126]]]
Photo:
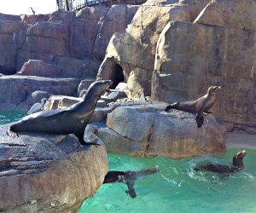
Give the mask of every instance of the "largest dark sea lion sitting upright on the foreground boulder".
[[28, 115], [20, 121], [10, 124], [7, 135], [17, 137], [17, 133], [23, 131], [60, 135], [74, 134], [79, 138], [82, 145], [95, 144], [84, 141], [84, 129], [95, 111], [96, 102], [111, 84], [111, 80], [91, 83], [82, 101], [73, 104], [71, 107]]

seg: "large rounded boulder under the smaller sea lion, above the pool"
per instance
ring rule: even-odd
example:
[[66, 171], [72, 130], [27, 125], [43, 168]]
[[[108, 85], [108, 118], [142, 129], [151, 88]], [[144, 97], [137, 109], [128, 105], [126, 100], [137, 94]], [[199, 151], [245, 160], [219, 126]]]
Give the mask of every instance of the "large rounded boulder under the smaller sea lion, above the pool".
[[212, 114], [205, 116], [198, 129], [195, 115], [165, 112], [165, 107], [164, 103], [117, 107], [108, 114], [107, 124], [89, 124], [86, 131], [101, 138], [108, 152], [133, 156], [187, 158], [226, 151], [228, 126]]

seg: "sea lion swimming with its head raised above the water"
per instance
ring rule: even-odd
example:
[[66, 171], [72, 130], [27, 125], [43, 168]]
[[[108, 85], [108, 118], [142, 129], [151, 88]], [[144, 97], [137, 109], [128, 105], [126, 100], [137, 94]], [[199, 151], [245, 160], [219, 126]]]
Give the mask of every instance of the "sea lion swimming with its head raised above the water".
[[219, 174], [231, 173], [242, 170], [243, 168], [243, 157], [245, 157], [247, 151], [243, 150], [241, 152], [235, 153], [233, 156], [233, 165], [222, 165], [222, 164], [206, 164], [196, 167], [195, 170], [204, 170], [217, 172]]

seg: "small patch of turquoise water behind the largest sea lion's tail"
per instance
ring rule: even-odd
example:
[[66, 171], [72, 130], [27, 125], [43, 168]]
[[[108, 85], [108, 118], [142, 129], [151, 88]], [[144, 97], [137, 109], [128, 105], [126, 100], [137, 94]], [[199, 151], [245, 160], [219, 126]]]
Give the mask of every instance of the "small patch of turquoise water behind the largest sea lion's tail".
[[0, 111], [0, 125], [9, 124], [11, 122], [17, 121], [26, 115], [27, 114], [25, 111], [19, 111], [19, 110]]

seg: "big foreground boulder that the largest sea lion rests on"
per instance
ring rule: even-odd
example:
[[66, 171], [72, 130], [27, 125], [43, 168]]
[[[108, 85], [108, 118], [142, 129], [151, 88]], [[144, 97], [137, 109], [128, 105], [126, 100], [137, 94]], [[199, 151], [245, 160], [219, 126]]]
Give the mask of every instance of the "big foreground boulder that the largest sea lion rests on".
[[103, 144], [82, 147], [74, 135], [14, 139], [6, 129], [0, 127], [1, 212], [75, 212], [102, 185], [108, 172]]

